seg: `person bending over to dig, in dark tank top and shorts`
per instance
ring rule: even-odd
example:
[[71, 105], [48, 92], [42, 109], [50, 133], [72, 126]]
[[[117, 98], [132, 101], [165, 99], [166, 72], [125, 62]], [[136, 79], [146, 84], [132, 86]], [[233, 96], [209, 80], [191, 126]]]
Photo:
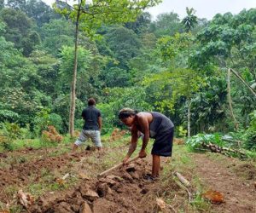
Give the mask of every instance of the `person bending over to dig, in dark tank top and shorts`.
[[140, 158], [145, 158], [145, 149], [149, 138], [154, 138], [152, 154], [152, 174], [149, 180], [154, 180], [160, 175], [160, 156], [172, 156], [172, 141], [174, 125], [172, 121], [160, 112], [136, 112], [130, 108], [119, 111], [119, 119], [131, 127], [131, 145], [123, 163], [125, 164], [137, 147], [138, 133], [143, 133], [143, 146], [139, 153]]

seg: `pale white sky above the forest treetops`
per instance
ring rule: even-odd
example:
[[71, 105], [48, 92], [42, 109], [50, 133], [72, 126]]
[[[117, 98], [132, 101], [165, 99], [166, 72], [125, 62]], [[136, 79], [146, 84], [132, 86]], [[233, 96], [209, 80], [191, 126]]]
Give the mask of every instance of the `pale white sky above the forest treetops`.
[[[54, 0], [43, 1], [49, 5], [54, 2]], [[147, 11], [154, 19], [158, 14], [169, 12], [177, 13], [183, 18], [186, 15], [186, 7], [194, 8], [197, 17], [211, 20], [218, 13], [238, 14], [242, 9], [256, 8], [256, 0], [163, 0], [158, 6]]]

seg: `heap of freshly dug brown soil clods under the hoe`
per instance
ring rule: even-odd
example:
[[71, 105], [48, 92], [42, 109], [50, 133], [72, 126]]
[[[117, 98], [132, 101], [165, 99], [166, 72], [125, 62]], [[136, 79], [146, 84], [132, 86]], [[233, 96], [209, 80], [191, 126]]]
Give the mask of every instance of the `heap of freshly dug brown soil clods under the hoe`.
[[[46, 194], [38, 199], [32, 212], [152, 212], [156, 208], [154, 191], [158, 182], [143, 177], [151, 170], [148, 161], [138, 159], [113, 175], [83, 181], [79, 187], [66, 193]], [[154, 193], [154, 196], [150, 194]], [[160, 192], [158, 192], [160, 193]], [[148, 198], [149, 200], [147, 200]], [[145, 207], [147, 204], [148, 210]], [[150, 203], [151, 202], [151, 203]], [[86, 206], [86, 207], [84, 207]], [[86, 210], [82, 211], [82, 209]]]

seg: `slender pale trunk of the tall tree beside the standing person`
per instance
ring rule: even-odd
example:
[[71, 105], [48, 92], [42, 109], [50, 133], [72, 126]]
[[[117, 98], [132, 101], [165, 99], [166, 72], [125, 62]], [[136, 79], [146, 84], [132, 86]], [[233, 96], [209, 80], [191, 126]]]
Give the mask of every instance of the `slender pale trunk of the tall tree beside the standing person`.
[[74, 136], [74, 114], [76, 108], [76, 83], [77, 83], [77, 69], [78, 69], [78, 46], [79, 46], [79, 15], [80, 5], [76, 20], [75, 30], [75, 48], [74, 48], [74, 62], [73, 62], [73, 79], [71, 83], [71, 94], [70, 94], [70, 110], [69, 110], [69, 134]]

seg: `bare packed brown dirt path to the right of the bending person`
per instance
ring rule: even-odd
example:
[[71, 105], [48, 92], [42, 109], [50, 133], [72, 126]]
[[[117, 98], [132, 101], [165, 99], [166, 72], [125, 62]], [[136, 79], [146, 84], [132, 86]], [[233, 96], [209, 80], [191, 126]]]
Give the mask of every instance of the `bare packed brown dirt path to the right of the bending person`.
[[[235, 158], [212, 160], [205, 154], [193, 154], [195, 174], [209, 189], [224, 195], [223, 204], [215, 204], [216, 212], [253, 213], [256, 212], [256, 188], [254, 187], [256, 168], [241, 163]], [[234, 168], [235, 167], [235, 168]], [[245, 178], [244, 178], [245, 177]]]

